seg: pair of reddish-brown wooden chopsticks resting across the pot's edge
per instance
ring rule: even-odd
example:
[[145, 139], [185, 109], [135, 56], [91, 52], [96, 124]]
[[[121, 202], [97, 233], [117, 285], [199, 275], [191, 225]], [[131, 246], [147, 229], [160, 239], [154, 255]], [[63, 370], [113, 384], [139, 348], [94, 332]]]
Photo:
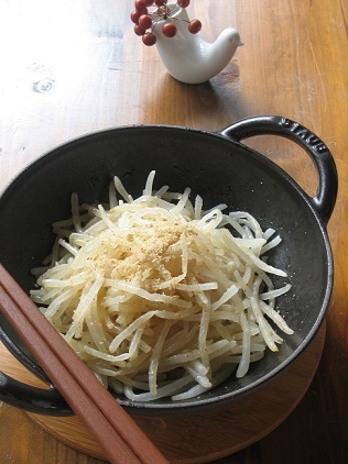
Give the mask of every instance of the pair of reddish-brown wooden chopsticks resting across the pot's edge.
[[1, 264], [0, 310], [112, 464], [167, 463]]

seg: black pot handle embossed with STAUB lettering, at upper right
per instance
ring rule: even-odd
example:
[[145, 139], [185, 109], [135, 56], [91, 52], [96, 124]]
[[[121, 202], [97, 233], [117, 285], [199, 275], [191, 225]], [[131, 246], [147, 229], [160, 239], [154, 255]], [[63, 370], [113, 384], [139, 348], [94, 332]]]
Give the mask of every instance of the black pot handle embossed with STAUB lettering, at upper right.
[[255, 135], [280, 135], [303, 147], [313, 159], [319, 177], [316, 196], [308, 199], [322, 221], [325, 224], [328, 222], [336, 202], [338, 178], [331, 153], [317, 135], [297, 122], [282, 117], [243, 119], [225, 128], [220, 133], [237, 142]]

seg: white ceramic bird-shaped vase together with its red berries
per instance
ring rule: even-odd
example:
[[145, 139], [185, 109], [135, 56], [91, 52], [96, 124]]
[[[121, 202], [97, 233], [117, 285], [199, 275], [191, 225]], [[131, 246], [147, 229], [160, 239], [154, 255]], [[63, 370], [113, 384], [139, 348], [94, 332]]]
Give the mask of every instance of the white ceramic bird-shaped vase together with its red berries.
[[[200, 22], [188, 18], [188, 4], [189, 0], [138, 0], [131, 18], [135, 33], [142, 35], [145, 45], [155, 45], [172, 77], [185, 84], [202, 84], [220, 73], [243, 44], [232, 27], [222, 31], [214, 43], [205, 42], [197, 35]], [[151, 5], [156, 7], [153, 12], [149, 11]]]

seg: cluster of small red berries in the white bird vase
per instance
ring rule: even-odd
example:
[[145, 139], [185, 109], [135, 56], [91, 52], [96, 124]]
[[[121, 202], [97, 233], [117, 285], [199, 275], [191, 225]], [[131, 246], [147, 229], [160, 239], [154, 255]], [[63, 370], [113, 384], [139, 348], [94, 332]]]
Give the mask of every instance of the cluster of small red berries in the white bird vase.
[[[174, 37], [176, 34], [175, 21], [183, 21], [173, 15], [181, 8], [187, 8], [189, 0], [176, 0], [176, 5], [170, 8], [167, 0], [137, 0], [135, 10], [131, 13], [131, 20], [135, 24], [134, 32], [137, 35], [142, 36], [145, 45], [151, 46], [156, 43], [154, 29], [160, 21], [165, 21], [161, 27], [162, 34], [166, 37]], [[152, 8], [153, 7], [153, 8]], [[150, 10], [152, 8], [152, 10]], [[192, 34], [197, 34], [202, 29], [199, 20], [192, 20], [187, 25]]]

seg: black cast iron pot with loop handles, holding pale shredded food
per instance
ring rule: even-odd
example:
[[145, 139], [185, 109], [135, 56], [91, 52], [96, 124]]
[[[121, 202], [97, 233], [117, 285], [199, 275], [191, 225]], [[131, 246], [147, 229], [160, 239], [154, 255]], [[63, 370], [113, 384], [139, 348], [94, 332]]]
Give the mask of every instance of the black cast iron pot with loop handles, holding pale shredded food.
[[[261, 134], [284, 136], [308, 153], [319, 177], [314, 198], [274, 163], [240, 143]], [[51, 224], [69, 216], [73, 191], [85, 202], [106, 199], [107, 186], [118, 175], [137, 197], [152, 169], [156, 170], [155, 186], [170, 185], [172, 191], [191, 187], [193, 196], [203, 197], [206, 208], [225, 202], [230, 210], [249, 211], [262, 227], [274, 228], [283, 239], [270, 261], [289, 273], [292, 289], [279, 298], [278, 308], [295, 334], [284, 336], [279, 353], [267, 353], [246, 377], [232, 376], [198, 398], [148, 404], [118, 398], [129, 412], [138, 415], [220, 406], [252, 394], [287, 367], [306, 349], [325, 317], [333, 288], [326, 223], [337, 195], [335, 163], [316, 135], [280, 117], [242, 120], [218, 133], [163, 125], [94, 133], [45, 154], [3, 191], [0, 262], [29, 291], [33, 286], [30, 269], [50, 253]], [[70, 413], [3, 318], [0, 318], [0, 336], [12, 354], [50, 386], [47, 390], [34, 388], [0, 373], [0, 400], [40, 413]]]

